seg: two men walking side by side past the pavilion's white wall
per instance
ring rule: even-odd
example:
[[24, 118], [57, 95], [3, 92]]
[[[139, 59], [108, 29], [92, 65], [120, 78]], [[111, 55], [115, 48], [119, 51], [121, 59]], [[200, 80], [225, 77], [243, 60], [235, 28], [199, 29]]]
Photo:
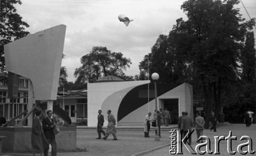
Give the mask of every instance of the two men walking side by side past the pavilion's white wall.
[[107, 125], [107, 128], [106, 128], [106, 133], [103, 131], [102, 129], [102, 126], [103, 126], [103, 123], [104, 123], [104, 116], [101, 114], [102, 111], [99, 110], [98, 111], [98, 124], [97, 124], [97, 132], [98, 132], [98, 138], [96, 139], [101, 139], [101, 133], [103, 134], [103, 138], [104, 140], [106, 140], [110, 134], [113, 135], [114, 139], [113, 140], [117, 140], [117, 137], [116, 137], [116, 128], [115, 128], [115, 125], [116, 125], [116, 119], [114, 117], [113, 114], [111, 114], [111, 110], [108, 110], [108, 112], [106, 112], [108, 114], [108, 125]]

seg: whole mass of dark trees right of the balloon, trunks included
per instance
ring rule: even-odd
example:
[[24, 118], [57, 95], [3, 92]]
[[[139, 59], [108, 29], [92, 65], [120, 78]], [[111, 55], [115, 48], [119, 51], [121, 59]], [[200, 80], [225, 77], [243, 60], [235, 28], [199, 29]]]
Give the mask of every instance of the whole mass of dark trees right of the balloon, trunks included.
[[[168, 36], [159, 36], [150, 54], [150, 73], [159, 72], [165, 82], [193, 84], [208, 117], [212, 110], [218, 117], [223, 95], [230, 93], [228, 85], [240, 79], [241, 51], [252, 47], [247, 32], [255, 19], [245, 21], [234, 8], [237, 4], [239, 0], [184, 2], [181, 9], [188, 19], [177, 19]], [[145, 62], [144, 58], [140, 63], [142, 71], [146, 71]]]

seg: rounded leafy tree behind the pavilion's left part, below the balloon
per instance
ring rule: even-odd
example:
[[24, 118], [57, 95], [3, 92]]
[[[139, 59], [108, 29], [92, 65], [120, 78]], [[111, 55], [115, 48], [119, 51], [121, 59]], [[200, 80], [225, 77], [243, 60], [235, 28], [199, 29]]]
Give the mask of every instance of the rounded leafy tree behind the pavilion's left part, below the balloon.
[[80, 60], [82, 66], [75, 69], [76, 82], [94, 82], [101, 76], [121, 75], [123, 70], [130, 67], [131, 60], [115, 53], [106, 47], [94, 46], [90, 54]]

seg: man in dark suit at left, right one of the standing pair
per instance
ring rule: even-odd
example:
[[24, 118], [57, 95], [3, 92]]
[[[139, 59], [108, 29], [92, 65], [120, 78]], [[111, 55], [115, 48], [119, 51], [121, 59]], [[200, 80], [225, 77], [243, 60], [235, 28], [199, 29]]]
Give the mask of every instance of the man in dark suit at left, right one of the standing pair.
[[[53, 129], [55, 127], [52, 117], [52, 111], [47, 111], [47, 117], [42, 119], [42, 128], [44, 129], [44, 133], [46, 136], [46, 140], [52, 146], [52, 156], [57, 155], [57, 143], [55, 140], [55, 134], [53, 133]], [[48, 155], [48, 149], [45, 149], [44, 155]]]

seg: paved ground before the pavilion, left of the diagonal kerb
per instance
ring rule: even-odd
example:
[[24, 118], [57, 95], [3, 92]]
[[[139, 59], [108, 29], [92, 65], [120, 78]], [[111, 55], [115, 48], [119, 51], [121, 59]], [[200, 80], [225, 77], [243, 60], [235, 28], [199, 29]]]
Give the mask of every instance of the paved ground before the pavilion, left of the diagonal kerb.
[[59, 153], [58, 155], [131, 155], [169, 142], [168, 131], [162, 131], [161, 141], [155, 141], [155, 133], [150, 132], [150, 138], [144, 138], [144, 131], [117, 130], [117, 141], [113, 136], [105, 141], [96, 139], [95, 129], [77, 129], [77, 147], [88, 149], [87, 152]]

